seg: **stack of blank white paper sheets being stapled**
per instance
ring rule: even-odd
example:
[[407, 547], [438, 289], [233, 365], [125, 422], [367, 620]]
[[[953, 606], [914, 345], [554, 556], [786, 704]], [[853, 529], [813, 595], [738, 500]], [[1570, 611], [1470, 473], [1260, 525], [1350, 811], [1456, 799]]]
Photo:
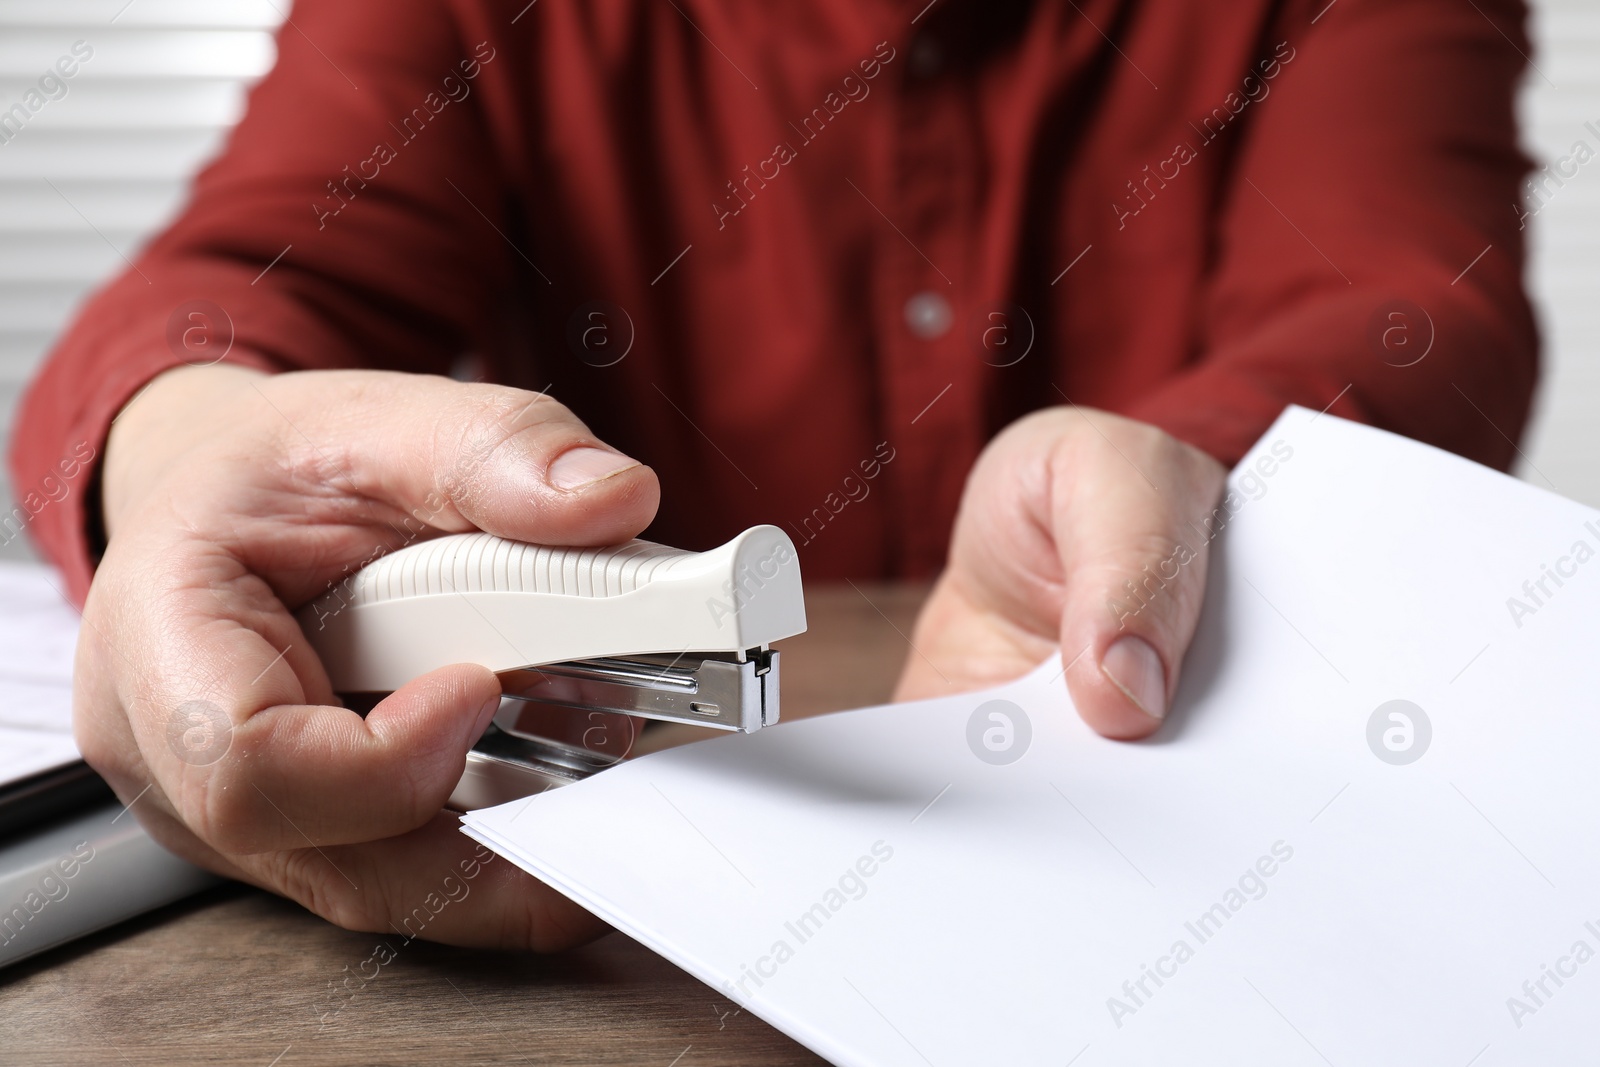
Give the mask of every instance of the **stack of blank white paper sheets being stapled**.
[[1050, 662], [464, 829], [837, 1064], [1584, 1059], [1600, 512], [1301, 408], [1224, 507], [1149, 742]]

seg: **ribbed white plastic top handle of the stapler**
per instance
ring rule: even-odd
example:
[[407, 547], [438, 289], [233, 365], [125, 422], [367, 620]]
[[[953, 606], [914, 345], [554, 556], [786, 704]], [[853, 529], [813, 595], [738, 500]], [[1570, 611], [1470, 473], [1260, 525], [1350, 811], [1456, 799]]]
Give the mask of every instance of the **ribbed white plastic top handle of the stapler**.
[[789, 534], [709, 552], [648, 541], [552, 549], [486, 533], [424, 541], [299, 613], [341, 693], [389, 693], [446, 664], [494, 672], [602, 656], [744, 653], [805, 630]]

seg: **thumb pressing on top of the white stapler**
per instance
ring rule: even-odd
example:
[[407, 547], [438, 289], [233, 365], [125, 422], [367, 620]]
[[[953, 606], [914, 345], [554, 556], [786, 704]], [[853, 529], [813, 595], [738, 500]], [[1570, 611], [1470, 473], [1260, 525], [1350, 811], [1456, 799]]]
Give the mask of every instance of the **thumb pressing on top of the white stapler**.
[[304, 376], [307, 386], [358, 394], [322, 408], [339, 424], [334, 440], [347, 442], [342, 474], [435, 530], [603, 545], [654, 518], [654, 472], [546, 394], [374, 371], [322, 371]]

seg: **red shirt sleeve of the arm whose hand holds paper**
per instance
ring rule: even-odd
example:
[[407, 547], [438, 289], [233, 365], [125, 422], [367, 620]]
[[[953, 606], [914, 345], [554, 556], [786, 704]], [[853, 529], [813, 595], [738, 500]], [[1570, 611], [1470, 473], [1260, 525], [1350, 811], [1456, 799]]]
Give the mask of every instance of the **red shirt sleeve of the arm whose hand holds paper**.
[[1504, 469], [1538, 373], [1523, 5], [1294, 6], [1222, 192], [1195, 363], [1128, 414], [1234, 462], [1299, 403]]

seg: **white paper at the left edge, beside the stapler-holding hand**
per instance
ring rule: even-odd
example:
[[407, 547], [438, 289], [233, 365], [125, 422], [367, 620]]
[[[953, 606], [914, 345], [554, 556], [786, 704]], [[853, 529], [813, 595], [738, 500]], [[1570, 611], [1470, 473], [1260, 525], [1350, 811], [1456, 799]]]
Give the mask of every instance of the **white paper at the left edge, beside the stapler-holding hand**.
[[78, 758], [72, 654], [78, 614], [56, 574], [0, 563], [0, 787]]

